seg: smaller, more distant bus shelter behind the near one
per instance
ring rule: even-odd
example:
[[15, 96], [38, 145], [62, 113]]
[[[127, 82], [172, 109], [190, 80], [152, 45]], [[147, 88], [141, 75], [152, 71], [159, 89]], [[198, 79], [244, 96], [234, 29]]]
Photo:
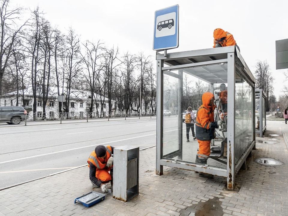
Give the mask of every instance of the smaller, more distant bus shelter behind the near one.
[[266, 93], [263, 89], [255, 89], [256, 134], [264, 137], [266, 131]]

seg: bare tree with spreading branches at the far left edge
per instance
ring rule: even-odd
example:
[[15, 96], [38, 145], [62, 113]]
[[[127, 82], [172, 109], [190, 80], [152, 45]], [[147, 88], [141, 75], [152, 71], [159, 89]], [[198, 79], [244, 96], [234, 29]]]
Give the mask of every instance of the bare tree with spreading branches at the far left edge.
[[5, 73], [5, 69], [8, 65], [9, 58], [12, 54], [13, 44], [15, 40], [22, 33], [22, 27], [26, 25], [26, 22], [20, 27], [16, 26], [16, 22], [20, 20], [19, 15], [23, 9], [17, 7], [9, 9], [9, 0], [0, 1], [0, 18], [1, 18], [1, 38], [0, 38], [0, 95], [2, 93], [2, 79]]

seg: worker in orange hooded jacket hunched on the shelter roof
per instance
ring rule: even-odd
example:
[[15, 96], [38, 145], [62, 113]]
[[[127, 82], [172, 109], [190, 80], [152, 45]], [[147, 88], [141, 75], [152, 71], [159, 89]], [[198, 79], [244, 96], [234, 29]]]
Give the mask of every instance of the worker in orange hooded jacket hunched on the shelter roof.
[[236, 44], [233, 35], [229, 32], [225, 32], [223, 29], [215, 29], [213, 32], [213, 37], [213, 48], [223, 46], [237, 46], [238, 50], [240, 51], [239, 46]]

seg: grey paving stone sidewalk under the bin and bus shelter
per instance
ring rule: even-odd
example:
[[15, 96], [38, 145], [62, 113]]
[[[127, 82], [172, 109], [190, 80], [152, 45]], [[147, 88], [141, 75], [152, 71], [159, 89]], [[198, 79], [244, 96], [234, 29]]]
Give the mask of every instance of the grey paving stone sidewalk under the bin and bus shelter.
[[[140, 194], [129, 202], [107, 195], [90, 208], [74, 204], [76, 197], [100, 191], [92, 189], [88, 167], [81, 167], [0, 191], [0, 215], [288, 215], [288, 152], [279, 128], [266, 131], [265, 138], [257, 137], [247, 170], [236, 175], [239, 191], [226, 191], [225, 178], [204, 179], [193, 171], [164, 167], [164, 175], [157, 176], [155, 151], [155, 147], [140, 151]], [[283, 165], [257, 164], [259, 157]]]

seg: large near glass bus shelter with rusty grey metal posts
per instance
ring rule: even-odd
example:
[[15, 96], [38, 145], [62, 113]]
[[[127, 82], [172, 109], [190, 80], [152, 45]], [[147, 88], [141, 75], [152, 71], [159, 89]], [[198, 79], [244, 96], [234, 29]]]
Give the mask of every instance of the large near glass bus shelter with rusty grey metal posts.
[[[227, 188], [233, 190], [236, 173], [246, 166], [246, 158], [255, 148], [255, 78], [240, 52], [235, 46], [157, 52], [156, 63], [156, 174], [163, 174], [163, 166], [209, 173], [226, 177]], [[185, 95], [189, 78], [196, 83], [190, 88], [191, 96]], [[185, 100], [195, 97], [196, 103], [191, 107], [198, 109], [203, 92], [210, 91], [217, 99], [221, 84], [228, 91], [227, 108], [223, 112], [216, 100], [214, 116], [217, 121], [224, 114], [226, 128], [215, 130], [217, 135], [211, 142], [207, 165], [198, 164], [195, 163], [198, 142], [186, 142]], [[163, 110], [168, 109], [175, 110], [177, 115], [164, 116]]]

